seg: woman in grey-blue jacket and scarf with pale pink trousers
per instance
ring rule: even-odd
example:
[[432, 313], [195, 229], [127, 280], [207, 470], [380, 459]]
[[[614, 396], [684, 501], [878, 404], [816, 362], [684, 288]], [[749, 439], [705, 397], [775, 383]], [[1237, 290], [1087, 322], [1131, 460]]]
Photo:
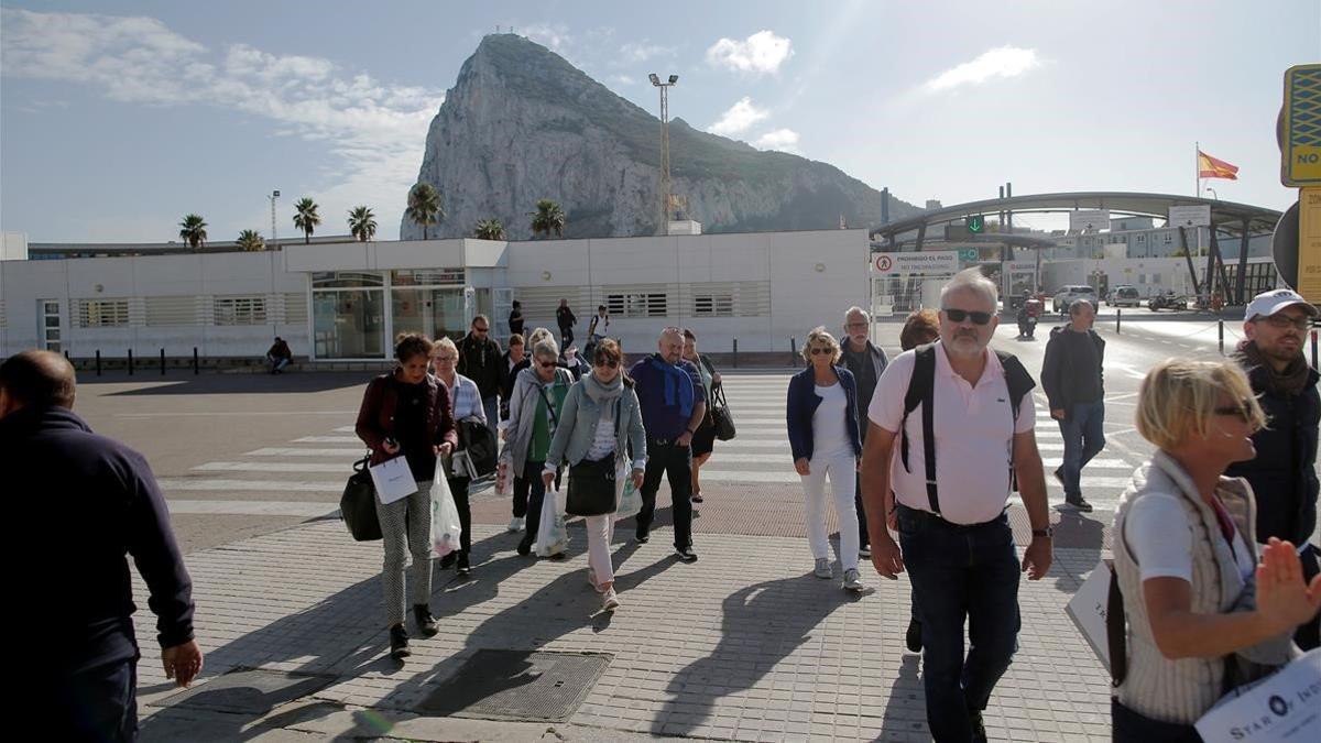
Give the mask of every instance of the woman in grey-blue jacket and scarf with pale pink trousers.
[[[601, 338], [592, 352], [592, 373], [569, 389], [561, 411], [563, 422], [555, 430], [543, 488], [551, 487], [555, 468], [565, 461], [571, 468], [584, 461], [608, 460], [609, 472], [618, 472], [631, 451], [633, 487], [642, 488], [647, 464], [647, 436], [642, 428], [642, 409], [633, 391], [633, 379], [624, 373], [620, 344]], [[571, 483], [573, 471], [569, 471]], [[612, 485], [613, 487], [613, 485]], [[616, 508], [618, 502], [614, 504]], [[587, 516], [587, 582], [601, 594], [601, 608], [614, 611], [620, 599], [614, 592], [614, 567], [610, 565], [610, 539], [614, 537], [614, 508], [609, 513]]]

